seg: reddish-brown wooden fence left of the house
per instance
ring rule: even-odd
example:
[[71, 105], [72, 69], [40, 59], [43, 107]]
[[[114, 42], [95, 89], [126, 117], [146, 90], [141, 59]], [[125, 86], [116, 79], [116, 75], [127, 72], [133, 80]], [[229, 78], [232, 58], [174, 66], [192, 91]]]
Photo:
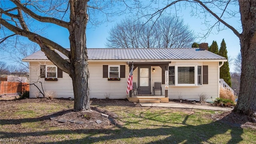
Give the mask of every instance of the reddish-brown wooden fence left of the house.
[[9, 94], [22, 91], [29, 91], [29, 85], [26, 82], [0, 82], [0, 94]]

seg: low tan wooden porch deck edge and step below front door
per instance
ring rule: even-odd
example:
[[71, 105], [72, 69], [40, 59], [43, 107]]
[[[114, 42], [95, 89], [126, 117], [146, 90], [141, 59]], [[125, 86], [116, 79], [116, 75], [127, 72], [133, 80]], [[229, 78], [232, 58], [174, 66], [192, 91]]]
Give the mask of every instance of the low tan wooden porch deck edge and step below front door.
[[127, 99], [129, 102], [136, 102], [136, 103], [168, 103], [169, 98], [165, 96], [160, 96], [160, 95], [136, 95], [130, 97], [127, 95]]

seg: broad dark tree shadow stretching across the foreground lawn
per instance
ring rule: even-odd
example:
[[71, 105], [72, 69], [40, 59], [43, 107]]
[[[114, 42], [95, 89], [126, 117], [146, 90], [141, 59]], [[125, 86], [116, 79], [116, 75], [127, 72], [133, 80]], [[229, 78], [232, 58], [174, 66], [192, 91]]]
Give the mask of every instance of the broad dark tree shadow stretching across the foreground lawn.
[[[10, 136], [15, 138], [23, 139], [23, 142], [26, 142], [27, 136], [49, 136], [49, 135], [74, 135], [74, 134], [86, 134], [84, 138], [72, 139], [72, 140], [63, 140], [59, 141], [60, 143], [95, 143], [95, 142], [104, 142], [110, 140], [118, 140], [118, 142], [125, 141], [125, 143], [159, 143], [159, 144], [176, 144], [176, 143], [214, 143], [212, 139], [218, 139], [219, 134], [225, 134], [228, 137], [231, 135], [231, 139], [228, 142], [223, 141], [227, 144], [239, 143], [242, 141], [241, 135], [243, 134], [243, 129], [234, 125], [227, 125], [220, 121], [214, 121], [209, 124], [202, 125], [189, 125], [186, 124], [190, 115], [185, 116], [182, 123], [177, 124], [178, 126], [159, 126], [160, 128], [150, 127], [150, 124], [146, 124], [149, 128], [134, 129], [128, 128], [129, 122], [126, 122], [124, 126], [118, 125], [116, 130], [112, 129], [78, 129], [78, 130], [52, 130], [52, 131], [38, 131], [38, 132], [1, 132], [2, 138], [9, 138]], [[139, 121], [140, 122], [140, 121]], [[139, 123], [138, 122], [138, 123]], [[152, 125], [153, 126], [153, 125]], [[230, 134], [228, 132], [230, 131]], [[156, 138], [156, 137], [161, 138]], [[225, 137], [227, 137], [225, 136]], [[146, 142], [138, 141], [146, 138]], [[164, 138], [163, 138], [164, 137]], [[44, 137], [42, 137], [44, 138]], [[150, 140], [152, 138], [153, 140]], [[115, 142], [115, 141], [112, 141]], [[44, 144], [45, 142], [41, 142]], [[48, 144], [56, 144], [52, 142], [47, 142]], [[222, 143], [216, 142], [216, 143]], [[250, 143], [250, 142], [249, 142]], [[40, 144], [40, 143], [39, 143]]]

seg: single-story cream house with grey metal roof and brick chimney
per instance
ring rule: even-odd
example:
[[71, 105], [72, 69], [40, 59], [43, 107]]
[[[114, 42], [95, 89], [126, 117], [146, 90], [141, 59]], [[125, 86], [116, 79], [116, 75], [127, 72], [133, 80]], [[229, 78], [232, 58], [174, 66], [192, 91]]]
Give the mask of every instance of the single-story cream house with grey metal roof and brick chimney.
[[[126, 93], [133, 64], [133, 82], [141, 88], [135, 97], [199, 100], [204, 94], [207, 101], [212, 101], [219, 97], [220, 67], [227, 60], [206, 49], [208, 44], [206, 48], [88, 48], [90, 98], [134, 97]], [[70, 76], [50, 62], [44, 52], [35, 52], [23, 61], [30, 64], [30, 83], [42, 83], [44, 92], [54, 91], [57, 98], [74, 97]], [[41, 75], [43, 68], [45, 73]], [[155, 82], [161, 82], [162, 96], [160, 91], [153, 95]], [[36, 83], [38, 88], [40, 83]], [[30, 98], [37, 95], [38, 89], [30, 86]]]

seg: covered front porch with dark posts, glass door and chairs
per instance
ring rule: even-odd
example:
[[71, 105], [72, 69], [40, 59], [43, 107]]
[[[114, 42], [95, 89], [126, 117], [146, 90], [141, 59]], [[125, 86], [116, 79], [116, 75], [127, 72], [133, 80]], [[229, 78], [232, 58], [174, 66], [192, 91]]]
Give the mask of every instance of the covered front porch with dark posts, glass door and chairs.
[[[138, 95], [132, 95], [132, 91], [127, 95], [130, 102], [169, 102], [168, 98], [168, 66], [171, 62], [127, 62], [129, 70], [133, 68], [133, 83]], [[166, 75], [167, 74], [167, 75]], [[159, 85], [160, 84], [160, 85]], [[137, 87], [138, 86], [138, 87]], [[161, 95], [154, 95], [155, 90], [160, 90]], [[159, 91], [160, 92], [160, 91]]]

